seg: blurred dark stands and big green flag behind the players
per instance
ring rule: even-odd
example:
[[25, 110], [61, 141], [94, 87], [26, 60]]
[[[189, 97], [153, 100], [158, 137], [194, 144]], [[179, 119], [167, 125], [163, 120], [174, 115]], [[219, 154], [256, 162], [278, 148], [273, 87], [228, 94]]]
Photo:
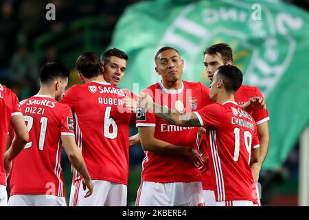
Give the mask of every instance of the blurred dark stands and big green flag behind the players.
[[[45, 18], [48, 3], [56, 6], [55, 21]], [[271, 116], [262, 204], [309, 206], [308, 0], [2, 0], [0, 7], [0, 83], [19, 100], [38, 91], [43, 63], [71, 69], [72, 85], [80, 83], [78, 55], [110, 47], [129, 56], [119, 87], [138, 93], [157, 82], [153, 56], [163, 45], [181, 52], [185, 80], [208, 85], [203, 50], [229, 43], [244, 83], [262, 90]], [[135, 126], [130, 133], [137, 133]], [[130, 148], [128, 206], [134, 206], [143, 157], [141, 146]], [[64, 152], [62, 168], [68, 199], [71, 172]]]

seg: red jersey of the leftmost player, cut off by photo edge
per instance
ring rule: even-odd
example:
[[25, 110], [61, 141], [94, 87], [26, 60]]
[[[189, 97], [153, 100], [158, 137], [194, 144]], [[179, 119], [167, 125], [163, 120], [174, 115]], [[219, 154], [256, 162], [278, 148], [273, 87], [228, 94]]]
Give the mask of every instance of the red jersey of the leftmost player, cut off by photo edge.
[[3, 156], [6, 138], [10, 129], [10, 120], [14, 115], [22, 115], [16, 94], [0, 84], [0, 185], [6, 186]]

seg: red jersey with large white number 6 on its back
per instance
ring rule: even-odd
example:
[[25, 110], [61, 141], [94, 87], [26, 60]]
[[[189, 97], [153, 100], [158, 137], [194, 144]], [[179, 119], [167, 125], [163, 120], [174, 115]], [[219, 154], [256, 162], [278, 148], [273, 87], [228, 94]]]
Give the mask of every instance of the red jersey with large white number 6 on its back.
[[128, 184], [132, 113], [124, 107], [125, 96], [122, 89], [110, 83], [93, 81], [74, 85], [62, 98], [61, 102], [73, 111], [76, 142], [82, 149], [91, 179]]

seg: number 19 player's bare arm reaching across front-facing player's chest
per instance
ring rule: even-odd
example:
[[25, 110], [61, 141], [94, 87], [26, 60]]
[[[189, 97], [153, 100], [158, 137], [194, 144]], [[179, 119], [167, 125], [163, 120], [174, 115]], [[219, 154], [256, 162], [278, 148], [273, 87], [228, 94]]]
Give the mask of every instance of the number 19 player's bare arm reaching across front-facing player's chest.
[[159, 118], [168, 122], [169, 124], [179, 125], [179, 126], [201, 126], [196, 114], [182, 113], [168, 107], [162, 107], [161, 105], [153, 102], [152, 98], [145, 93], [139, 94], [139, 106], [152, 111]]

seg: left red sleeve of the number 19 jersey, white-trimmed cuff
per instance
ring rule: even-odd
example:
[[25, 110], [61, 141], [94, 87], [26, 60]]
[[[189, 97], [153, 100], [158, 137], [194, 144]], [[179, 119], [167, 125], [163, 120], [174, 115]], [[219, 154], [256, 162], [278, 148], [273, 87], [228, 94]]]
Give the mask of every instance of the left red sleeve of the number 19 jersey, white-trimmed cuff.
[[198, 111], [194, 111], [201, 126], [218, 128], [223, 117], [223, 107], [221, 104], [209, 104]]

